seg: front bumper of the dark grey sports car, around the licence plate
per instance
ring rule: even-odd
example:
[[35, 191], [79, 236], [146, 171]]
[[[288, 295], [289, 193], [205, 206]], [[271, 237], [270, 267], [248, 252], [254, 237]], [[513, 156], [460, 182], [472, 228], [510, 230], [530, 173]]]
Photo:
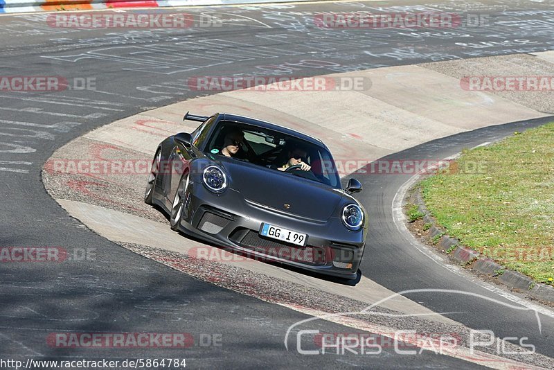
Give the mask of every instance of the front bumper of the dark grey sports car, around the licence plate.
[[[180, 228], [253, 258], [275, 261], [312, 272], [354, 279], [364, 254], [366, 228], [350, 231], [339, 218], [310, 220], [244, 200], [228, 189], [220, 195], [190, 182]], [[307, 234], [305, 247], [260, 236], [262, 223]]]

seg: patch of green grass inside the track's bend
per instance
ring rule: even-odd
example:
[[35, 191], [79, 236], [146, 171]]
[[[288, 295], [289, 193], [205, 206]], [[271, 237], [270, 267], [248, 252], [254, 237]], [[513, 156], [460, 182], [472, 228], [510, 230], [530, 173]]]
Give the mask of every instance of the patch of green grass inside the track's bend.
[[554, 123], [464, 150], [449, 170], [421, 185], [427, 208], [450, 236], [553, 283]]

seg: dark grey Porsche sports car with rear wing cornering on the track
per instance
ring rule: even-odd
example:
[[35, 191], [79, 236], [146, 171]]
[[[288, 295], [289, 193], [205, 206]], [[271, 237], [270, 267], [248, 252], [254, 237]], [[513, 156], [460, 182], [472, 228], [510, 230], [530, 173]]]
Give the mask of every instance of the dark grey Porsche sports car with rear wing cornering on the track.
[[265, 261], [354, 279], [368, 220], [342, 190], [328, 148], [286, 127], [231, 114], [169, 136], [152, 161], [145, 202], [171, 228]]

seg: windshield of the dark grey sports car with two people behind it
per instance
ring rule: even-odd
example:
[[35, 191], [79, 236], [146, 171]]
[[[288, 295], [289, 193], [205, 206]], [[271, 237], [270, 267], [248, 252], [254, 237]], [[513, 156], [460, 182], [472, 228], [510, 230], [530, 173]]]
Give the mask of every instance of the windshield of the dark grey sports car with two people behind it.
[[325, 147], [283, 132], [222, 121], [208, 140], [204, 152], [340, 188], [337, 168]]

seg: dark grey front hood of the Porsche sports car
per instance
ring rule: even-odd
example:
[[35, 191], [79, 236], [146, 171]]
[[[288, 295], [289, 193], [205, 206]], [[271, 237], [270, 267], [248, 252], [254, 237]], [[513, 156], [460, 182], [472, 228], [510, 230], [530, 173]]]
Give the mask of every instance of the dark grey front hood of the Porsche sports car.
[[[223, 159], [229, 186], [251, 202], [313, 220], [328, 220], [343, 197], [331, 188], [278, 170]], [[289, 204], [287, 209], [285, 204]]]

